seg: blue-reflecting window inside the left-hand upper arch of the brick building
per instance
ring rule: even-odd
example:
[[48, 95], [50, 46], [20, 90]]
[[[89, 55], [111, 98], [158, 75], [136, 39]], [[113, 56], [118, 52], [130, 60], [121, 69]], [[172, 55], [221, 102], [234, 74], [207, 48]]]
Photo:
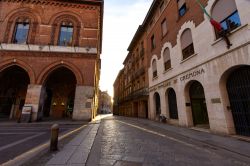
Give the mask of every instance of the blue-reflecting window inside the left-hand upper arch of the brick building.
[[29, 34], [29, 21], [17, 22], [15, 26], [15, 32], [13, 37], [13, 43], [26, 44]]

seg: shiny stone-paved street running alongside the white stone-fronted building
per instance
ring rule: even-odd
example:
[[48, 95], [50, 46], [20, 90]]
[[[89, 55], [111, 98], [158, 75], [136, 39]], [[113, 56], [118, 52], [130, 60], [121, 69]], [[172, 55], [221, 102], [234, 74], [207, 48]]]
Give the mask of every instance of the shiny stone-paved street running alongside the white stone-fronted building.
[[87, 165], [250, 165], [250, 143], [133, 118], [101, 116]]

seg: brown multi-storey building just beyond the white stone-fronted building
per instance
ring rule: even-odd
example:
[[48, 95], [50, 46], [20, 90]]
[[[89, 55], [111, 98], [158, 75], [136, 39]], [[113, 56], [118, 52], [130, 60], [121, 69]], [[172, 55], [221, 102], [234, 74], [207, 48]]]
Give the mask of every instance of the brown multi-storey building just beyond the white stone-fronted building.
[[124, 68], [114, 83], [114, 114], [148, 118], [146, 43], [146, 32], [139, 26], [128, 47], [129, 53], [123, 62]]

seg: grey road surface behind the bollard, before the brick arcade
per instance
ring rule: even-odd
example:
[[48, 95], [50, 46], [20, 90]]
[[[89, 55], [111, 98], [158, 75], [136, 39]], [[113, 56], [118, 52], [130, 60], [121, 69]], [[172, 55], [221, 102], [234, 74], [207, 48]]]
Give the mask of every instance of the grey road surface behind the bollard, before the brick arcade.
[[[50, 139], [50, 128], [55, 122], [0, 123], [0, 165], [44, 144]], [[60, 121], [60, 135], [82, 126], [79, 122]]]

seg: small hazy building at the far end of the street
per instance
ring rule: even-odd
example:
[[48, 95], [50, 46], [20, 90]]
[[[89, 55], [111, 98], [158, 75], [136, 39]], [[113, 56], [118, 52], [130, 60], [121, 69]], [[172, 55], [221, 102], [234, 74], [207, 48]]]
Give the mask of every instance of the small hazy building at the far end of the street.
[[109, 114], [112, 113], [112, 98], [107, 91], [99, 91], [99, 114]]

